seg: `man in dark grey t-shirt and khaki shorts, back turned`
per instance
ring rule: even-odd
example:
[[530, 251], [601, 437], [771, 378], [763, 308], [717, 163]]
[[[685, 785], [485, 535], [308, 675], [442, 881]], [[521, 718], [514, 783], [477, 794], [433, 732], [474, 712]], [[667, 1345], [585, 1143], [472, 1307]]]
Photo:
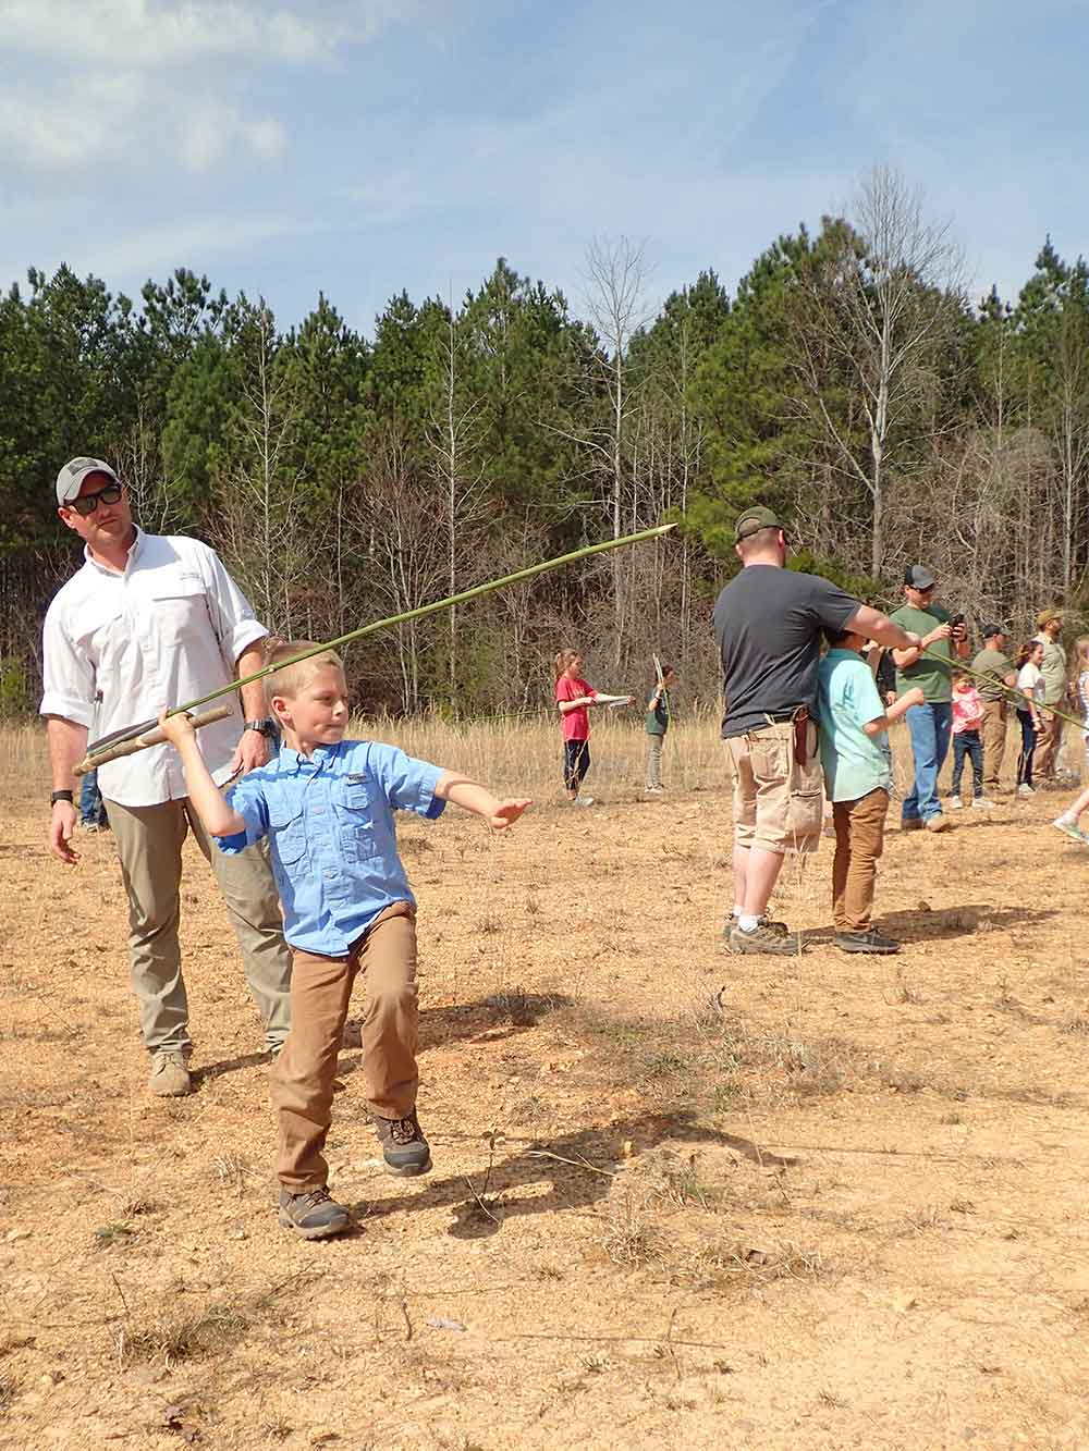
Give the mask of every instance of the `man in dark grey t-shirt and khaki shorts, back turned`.
[[851, 630], [908, 650], [918, 638], [819, 575], [786, 569], [787, 537], [771, 509], [736, 522], [742, 572], [714, 607], [726, 714], [722, 736], [733, 768], [733, 914], [730, 952], [796, 956], [800, 939], [770, 923], [767, 905], [786, 852], [820, 837], [822, 775], [816, 688], [825, 630]]

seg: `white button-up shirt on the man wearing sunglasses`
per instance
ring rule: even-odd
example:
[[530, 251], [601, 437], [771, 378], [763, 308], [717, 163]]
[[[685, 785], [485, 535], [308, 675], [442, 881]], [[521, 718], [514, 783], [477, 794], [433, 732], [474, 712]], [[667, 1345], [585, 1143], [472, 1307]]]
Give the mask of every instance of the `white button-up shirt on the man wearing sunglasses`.
[[[123, 573], [97, 564], [84, 550], [83, 569], [54, 595], [42, 633], [42, 715], [96, 736], [155, 717], [225, 685], [238, 656], [269, 631], [215, 550], [183, 535], [144, 534]], [[200, 731], [200, 749], [216, 782], [242, 731], [235, 714]], [[99, 789], [123, 807], [180, 801], [186, 791], [173, 746], [151, 746], [99, 770]]]

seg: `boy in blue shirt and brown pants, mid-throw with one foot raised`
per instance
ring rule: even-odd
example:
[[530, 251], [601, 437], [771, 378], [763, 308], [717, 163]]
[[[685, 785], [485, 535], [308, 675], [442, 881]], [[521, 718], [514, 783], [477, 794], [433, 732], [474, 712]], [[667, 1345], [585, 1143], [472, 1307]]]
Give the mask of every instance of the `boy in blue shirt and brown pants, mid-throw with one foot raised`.
[[[312, 651], [298, 663], [295, 656]], [[441, 815], [446, 802], [497, 831], [531, 805], [393, 746], [346, 740], [344, 666], [309, 641], [280, 644], [267, 682], [283, 727], [276, 760], [250, 772], [228, 798], [216, 789], [184, 715], [160, 715], [177, 747], [189, 800], [218, 847], [235, 855], [267, 837], [293, 952], [292, 1030], [273, 1072], [279, 1120], [280, 1223], [302, 1239], [350, 1228], [328, 1191], [322, 1149], [344, 1019], [363, 974], [363, 1072], [391, 1174], [425, 1174], [431, 1151], [417, 1117], [415, 898], [396, 850], [393, 811]]]

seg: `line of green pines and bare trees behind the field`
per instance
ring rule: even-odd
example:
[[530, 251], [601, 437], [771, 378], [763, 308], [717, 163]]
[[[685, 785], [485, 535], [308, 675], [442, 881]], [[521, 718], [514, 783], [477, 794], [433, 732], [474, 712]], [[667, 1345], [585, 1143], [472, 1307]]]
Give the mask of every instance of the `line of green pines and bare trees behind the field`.
[[[52, 479], [115, 463], [155, 533], [219, 548], [277, 633], [370, 618], [665, 518], [681, 528], [348, 659], [366, 708], [537, 708], [562, 644], [635, 686], [652, 651], [717, 685], [709, 615], [759, 501], [796, 563], [877, 604], [928, 563], [951, 608], [1029, 630], [1089, 607], [1089, 271], [1045, 239], [1016, 297], [971, 299], [947, 225], [892, 171], [648, 305], [626, 239], [578, 313], [499, 258], [456, 305], [393, 296], [372, 337], [296, 326], [179, 268], [139, 302], [68, 267], [0, 300], [0, 710], [32, 708], [41, 618], [78, 559]], [[581, 313], [581, 315], [579, 315]]]

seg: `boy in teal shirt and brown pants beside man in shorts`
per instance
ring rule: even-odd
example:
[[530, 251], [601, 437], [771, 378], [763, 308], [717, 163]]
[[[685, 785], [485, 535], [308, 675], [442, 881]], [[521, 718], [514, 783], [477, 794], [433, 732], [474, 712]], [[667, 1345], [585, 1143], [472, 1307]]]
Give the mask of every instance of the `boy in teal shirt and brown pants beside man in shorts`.
[[909, 689], [886, 711], [870, 666], [865, 638], [826, 631], [831, 646], [817, 670], [820, 765], [832, 802], [836, 853], [832, 862], [835, 943], [844, 952], [899, 952], [900, 943], [871, 924], [877, 859], [893, 784], [889, 726], [923, 701]]

